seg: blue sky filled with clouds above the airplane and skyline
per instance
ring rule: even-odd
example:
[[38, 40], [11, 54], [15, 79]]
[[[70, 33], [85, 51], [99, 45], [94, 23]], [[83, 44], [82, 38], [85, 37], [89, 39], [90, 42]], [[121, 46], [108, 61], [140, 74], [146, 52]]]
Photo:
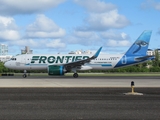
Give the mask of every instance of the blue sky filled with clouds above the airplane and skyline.
[[160, 48], [160, 0], [0, 0], [0, 44], [17, 55], [125, 53], [144, 30]]

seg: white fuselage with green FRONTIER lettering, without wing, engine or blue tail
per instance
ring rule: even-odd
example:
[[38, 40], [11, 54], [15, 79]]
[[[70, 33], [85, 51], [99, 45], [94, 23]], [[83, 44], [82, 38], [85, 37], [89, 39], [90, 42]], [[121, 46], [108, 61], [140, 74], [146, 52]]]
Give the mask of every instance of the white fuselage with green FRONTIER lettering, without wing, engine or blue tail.
[[[18, 55], [5, 63], [5, 66], [14, 70], [46, 70], [49, 65], [65, 65], [91, 57], [88, 54], [56, 54], [56, 55]], [[99, 55], [85, 63], [77, 70], [112, 69], [121, 60], [123, 55]], [[125, 59], [122, 64], [125, 64]]]

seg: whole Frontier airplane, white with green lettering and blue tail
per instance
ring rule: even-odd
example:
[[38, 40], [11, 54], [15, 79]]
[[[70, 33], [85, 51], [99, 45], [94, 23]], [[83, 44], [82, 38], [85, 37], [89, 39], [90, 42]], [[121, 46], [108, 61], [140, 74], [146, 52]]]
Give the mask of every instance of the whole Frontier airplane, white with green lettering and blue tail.
[[92, 54], [22, 54], [5, 62], [4, 66], [14, 70], [24, 70], [23, 77], [27, 77], [27, 70], [47, 70], [48, 75], [64, 75], [74, 72], [77, 78], [79, 70], [108, 70], [129, 65], [135, 65], [154, 56], [147, 55], [152, 31], [145, 30], [132, 44], [125, 54], [102, 55], [102, 47]]

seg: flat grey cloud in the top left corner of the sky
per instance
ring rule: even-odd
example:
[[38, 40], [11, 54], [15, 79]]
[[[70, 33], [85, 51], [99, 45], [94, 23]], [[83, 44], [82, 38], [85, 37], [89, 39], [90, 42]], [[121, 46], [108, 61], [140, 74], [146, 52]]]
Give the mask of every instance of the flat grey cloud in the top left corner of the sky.
[[39, 13], [65, 0], [0, 0], [0, 15]]

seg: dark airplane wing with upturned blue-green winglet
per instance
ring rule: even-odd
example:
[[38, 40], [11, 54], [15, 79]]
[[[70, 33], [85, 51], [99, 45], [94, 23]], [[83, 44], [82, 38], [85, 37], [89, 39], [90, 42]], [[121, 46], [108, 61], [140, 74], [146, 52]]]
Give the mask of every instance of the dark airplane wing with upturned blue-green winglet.
[[80, 67], [81, 65], [84, 65], [85, 63], [89, 63], [91, 60], [95, 59], [98, 57], [99, 53], [101, 52], [101, 49], [102, 47], [100, 47], [98, 49], [98, 51], [90, 58], [87, 58], [87, 59], [84, 59], [84, 60], [78, 60], [78, 61], [75, 61], [75, 62], [70, 62], [70, 63], [67, 63], [67, 64], [64, 64], [64, 67], [67, 69], [67, 70], [71, 70], [71, 68], [75, 68], [75, 67]]

